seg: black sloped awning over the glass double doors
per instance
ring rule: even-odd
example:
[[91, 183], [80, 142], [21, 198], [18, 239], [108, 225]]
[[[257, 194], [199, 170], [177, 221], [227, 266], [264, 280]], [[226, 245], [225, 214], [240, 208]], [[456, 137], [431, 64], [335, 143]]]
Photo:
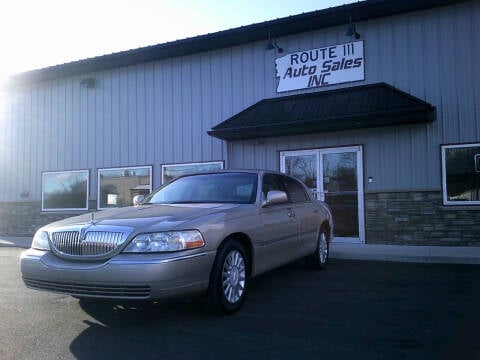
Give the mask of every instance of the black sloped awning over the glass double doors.
[[429, 122], [435, 108], [377, 83], [265, 99], [215, 126], [209, 135], [244, 140]]

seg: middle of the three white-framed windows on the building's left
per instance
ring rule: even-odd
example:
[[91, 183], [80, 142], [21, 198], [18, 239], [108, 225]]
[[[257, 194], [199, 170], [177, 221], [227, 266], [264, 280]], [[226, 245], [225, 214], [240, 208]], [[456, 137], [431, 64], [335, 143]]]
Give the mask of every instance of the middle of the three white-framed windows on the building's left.
[[98, 170], [100, 210], [133, 205], [136, 195], [152, 192], [152, 167], [125, 167]]

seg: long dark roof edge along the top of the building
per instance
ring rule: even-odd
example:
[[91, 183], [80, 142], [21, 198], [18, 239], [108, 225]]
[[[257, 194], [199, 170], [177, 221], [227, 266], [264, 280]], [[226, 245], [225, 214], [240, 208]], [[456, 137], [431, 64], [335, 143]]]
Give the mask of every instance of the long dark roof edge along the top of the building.
[[250, 42], [292, 35], [347, 24], [352, 18], [360, 22], [412, 11], [446, 6], [465, 0], [366, 0], [328, 9], [312, 11], [262, 23], [242, 26], [212, 34], [167, 42], [118, 53], [102, 55], [66, 64], [32, 70], [14, 75], [11, 85], [25, 85], [87, 74], [117, 67], [130, 66], [167, 58], [242, 45]]

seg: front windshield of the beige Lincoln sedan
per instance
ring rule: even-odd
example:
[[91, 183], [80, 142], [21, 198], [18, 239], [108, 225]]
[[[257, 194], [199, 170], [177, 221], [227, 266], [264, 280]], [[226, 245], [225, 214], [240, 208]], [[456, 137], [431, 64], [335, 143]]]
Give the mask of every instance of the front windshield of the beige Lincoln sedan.
[[257, 174], [215, 173], [181, 177], [159, 188], [142, 204], [251, 204], [257, 196]]

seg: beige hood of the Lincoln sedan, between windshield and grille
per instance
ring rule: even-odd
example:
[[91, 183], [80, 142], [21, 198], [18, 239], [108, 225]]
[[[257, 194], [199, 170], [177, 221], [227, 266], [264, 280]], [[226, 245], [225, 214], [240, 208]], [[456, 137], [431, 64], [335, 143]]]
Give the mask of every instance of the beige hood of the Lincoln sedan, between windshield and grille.
[[119, 209], [96, 211], [47, 226], [48, 230], [56, 227], [79, 226], [93, 224], [97, 226], [124, 226], [133, 231], [158, 227], [158, 230], [174, 229], [178, 225], [193, 219], [224, 212], [239, 204], [151, 204], [131, 206]]

